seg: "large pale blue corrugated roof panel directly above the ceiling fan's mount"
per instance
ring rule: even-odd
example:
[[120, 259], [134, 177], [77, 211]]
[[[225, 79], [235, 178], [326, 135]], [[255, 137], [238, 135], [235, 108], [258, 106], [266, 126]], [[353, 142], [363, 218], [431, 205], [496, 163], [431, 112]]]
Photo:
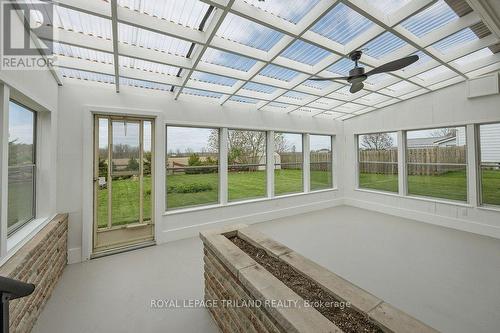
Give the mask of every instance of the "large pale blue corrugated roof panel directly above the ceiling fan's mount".
[[323, 16], [311, 30], [345, 45], [372, 26], [373, 22], [340, 3]]

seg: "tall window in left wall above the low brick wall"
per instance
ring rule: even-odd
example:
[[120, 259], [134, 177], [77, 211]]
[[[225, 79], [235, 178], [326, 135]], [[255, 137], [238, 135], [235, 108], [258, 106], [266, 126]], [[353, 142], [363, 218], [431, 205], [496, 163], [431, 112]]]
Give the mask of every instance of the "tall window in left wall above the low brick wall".
[[35, 112], [10, 102], [7, 208], [9, 234], [35, 218], [35, 129]]

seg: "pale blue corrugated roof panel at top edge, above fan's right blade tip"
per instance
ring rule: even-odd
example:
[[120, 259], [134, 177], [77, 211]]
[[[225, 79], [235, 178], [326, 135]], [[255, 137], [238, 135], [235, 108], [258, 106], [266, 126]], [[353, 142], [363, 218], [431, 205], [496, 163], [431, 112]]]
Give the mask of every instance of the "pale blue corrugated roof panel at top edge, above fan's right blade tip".
[[439, 0], [434, 5], [411, 16], [401, 25], [417, 37], [436, 30], [458, 18], [453, 9], [444, 0]]

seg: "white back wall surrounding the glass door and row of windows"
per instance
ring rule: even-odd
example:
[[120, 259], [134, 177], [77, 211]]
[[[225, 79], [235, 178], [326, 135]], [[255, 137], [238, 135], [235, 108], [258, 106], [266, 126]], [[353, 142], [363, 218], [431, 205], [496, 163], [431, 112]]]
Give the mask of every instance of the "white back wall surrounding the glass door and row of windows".
[[57, 208], [60, 212], [68, 212], [70, 216], [68, 247], [72, 262], [80, 260], [82, 253], [85, 258], [87, 249], [84, 243], [88, 237], [82, 225], [92, 225], [91, 214], [89, 215], [91, 205], [88, 203], [89, 198], [91, 199], [91, 182], [88, 179], [92, 168], [91, 111], [157, 116], [155, 183], [159, 186], [155, 190], [155, 216], [158, 243], [195, 236], [199, 230], [216, 224], [260, 222], [330, 207], [340, 202], [335, 200], [341, 197], [339, 191], [325, 191], [165, 215], [162, 199], [164, 186], [161, 186], [165, 180], [165, 124], [341, 134], [341, 123], [309, 116], [258, 111], [255, 108], [221, 107], [216, 103], [202, 103], [199, 98], [189, 96], [181, 96], [179, 101], [174, 101], [169, 93], [139, 88], [121, 87], [121, 92], [117, 94], [111, 85], [68, 81], [59, 95], [59, 109], [62, 111], [58, 118]]

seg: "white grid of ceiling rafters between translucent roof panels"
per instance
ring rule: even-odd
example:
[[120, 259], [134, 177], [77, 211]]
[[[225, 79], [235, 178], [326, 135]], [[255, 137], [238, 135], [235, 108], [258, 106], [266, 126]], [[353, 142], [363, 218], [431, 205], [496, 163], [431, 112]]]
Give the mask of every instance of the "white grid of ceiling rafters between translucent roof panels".
[[[255, 104], [255, 106], [261, 110], [267, 108], [267, 106], [278, 108], [283, 107], [286, 112], [295, 112], [301, 108], [311, 108], [313, 110], [318, 109], [318, 111], [320, 111], [318, 113], [311, 112], [310, 114], [312, 116], [318, 116], [323, 113], [329, 113], [329, 111], [335, 111], [342, 114], [342, 116], [339, 116], [341, 119], [343, 119], [344, 116], [351, 114], [353, 116], [358, 116], [364, 114], [364, 110], [375, 110], [377, 108], [411, 98], [411, 96], [417, 96], [424, 92], [433, 91], [435, 89], [439, 89], [440, 87], [444, 87], [458, 81], [463, 81], [464, 79], [500, 68], [500, 59], [498, 58], [498, 54], [487, 55], [472, 63], [460, 64], [459, 61], [455, 62], [457, 59], [462, 59], [463, 57], [478, 52], [483, 48], [487, 48], [498, 43], [499, 38], [495, 34], [463, 43], [452, 51], [448, 52], [447, 50], [445, 54], [439, 52], [433, 47], [435, 43], [448, 38], [454, 33], [482, 22], [482, 17], [475, 11], [454, 19], [439, 28], [430, 31], [420, 38], [411, 34], [401, 25], [403, 21], [428, 9], [436, 4], [438, 0], [411, 1], [392, 13], [390, 16], [386, 16], [384, 13], [372, 8], [370, 3], [366, 0], [322, 0], [316, 4], [316, 6], [313, 7], [312, 10], [310, 10], [301, 20], [297, 20], [297, 24], [282, 19], [271, 12], [261, 10], [244, 0], [200, 1], [217, 8], [212, 20], [208, 24], [208, 29], [205, 29], [206, 31], [199, 31], [197, 29], [180, 25], [176, 22], [170, 22], [166, 19], [162, 19], [159, 16], [157, 17], [140, 11], [134, 11], [126, 7], [121, 7], [120, 5], [116, 5], [116, 0], [111, 0], [111, 5], [109, 1], [102, 0], [54, 0], [54, 2], [61, 7], [109, 20], [111, 22], [111, 26], [113, 27], [113, 38], [110, 40], [63, 29], [59, 29], [59, 36], [56, 36], [55, 40], [63, 44], [84, 47], [112, 54], [114, 64], [111, 64], [111, 66], [109, 66], [109, 64], [94, 64], [95, 66], [92, 66], [83, 59], [61, 57], [62, 61], [59, 65], [62, 68], [88, 69], [96, 73], [102, 71], [104, 74], [110, 73], [110, 68], [112, 68], [114, 70], [110, 73], [110, 75], [115, 77], [117, 91], [119, 90], [121, 76], [123, 78], [146, 80], [179, 87], [179, 89], [177, 89], [174, 93], [174, 98], [178, 98], [184, 88], [198, 89], [222, 94], [222, 96], [218, 99], [221, 104], [232, 100], [233, 97], [241, 96], [258, 100], [259, 102]], [[479, 0], [470, 1], [475, 2]], [[115, 6], [113, 6], [113, 3], [115, 3]], [[333, 40], [319, 35], [311, 29], [316, 22], [327, 15], [328, 12], [339, 3], [346, 5], [355, 13], [362, 15], [364, 18], [367, 18], [374, 23], [372, 27], [356, 35], [352, 40], [347, 42], [346, 45], [336, 43]], [[236, 15], [260, 26], [270, 28], [274, 31], [282, 33], [283, 36], [281, 37], [281, 40], [279, 40], [269, 51], [263, 51], [223, 38], [220, 35], [216, 35], [219, 27], [224, 21], [224, 18], [228, 14]], [[148, 49], [146, 47], [119, 42], [116, 38], [118, 24], [125, 24], [152, 33], [173, 37], [177, 40], [194, 43], [196, 44], [194, 54], [190, 58], [185, 58], [157, 49]], [[492, 30], [491, 27], [490, 30]], [[390, 32], [400, 38], [406, 46], [396, 49], [389, 55], [382, 56], [379, 59], [370, 57], [368, 54], [364, 54], [361, 59], [362, 64], [369, 68], [374, 68], [388, 61], [416, 52], [422, 52], [431, 60], [423, 63], [418, 68], [412, 68], [408, 71], [392, 72], [388, 74], [389, 79], [384, 79], [383, 82], [379, 81], [366, 85], [361, 94], [356, 94], [354, 96], [343, 94], [347, 87], [347, 83], [344, 81], [334, 81], [335, 83], [333, 83], [330, 88], [323, 88], [322, 90], [309, 88], [304, 85], [304, 83], [306, 83], [306, 81], [311, 77], [331, 76], [332, 73], [326, 71], [329, 66], [343, 58], [346, 58], [351, 51], [363, 47], [365, 44], [375, 40], [386, 32]], [[307, 65], [283, 57], [282, 53], [297, 41], [319, 47], [327, 52], [330, 52], [331, 54], [312, 65]], [[229, 52], [230, 54], [250, 58], [257, 62], [250, 70], [245, 72], [202, 61], [201, 59], [208, 48]], [[141, 70], [139, 69], [120, 66], [119, 59], [121, 56], [174, 66], [176, 68], [184, 69], [186, 74], [182, 77], [176, 77], [174, 75], [154, 72], [146, 73], [142, 71], [141, 73]], [[259, 73], [268, 65], [278, 65], [285, 69], [295, 71], [298, 74], [288, 81], [259, 75]], [[448, 71], [435, 71], [435, 69], [441, 67], [446, 68]], [[367, 68], [367, 70], [369, 68]], [[439, 74], [428, 81], [423, 81], [418, 77], [422, 73], [431, 71], [433, 73], [436, 72], [438, 74], [444, 74]], [[223, 76], [237, 81], [234, 81], [234, 84], [228, 86], [221, 86], [215, 83], [191, 79], [193, 73], [195, 72]], [[429, 76], [427, 75], [426, 77]], [[276, 88], [276, 90], [272, 93], [255, 93], [252, 95], [249, 91], [242, 89], [249, 82], [265, 84]], [[399, 83], [406, 84], [401, 85]], [[410, 84], [413, 85], [411, 86], [412, 88], [407, 89], [406, 87]], [[401, 91], [388, 89], [392, 86], [405, 88]], [[290, 92], [301, 92], [307, 94], [307, 96], [295, 99], [284, 98]], [[371, 95], [372, 93], [377, 93], [378, 95], [372, 95], [371, 99], [362, 98], [362, 96]], [[376, 98], [374, 99], [373, 96]], [[335, 106], [328, 107], [325, 106], [328, 103], [322, 104], [320, 101], [325, 98], [335, 101], [335, 103], [331, 104]], [[379, 100], [382, 101], [378, 102]], [[370, 101], [378, 104], [370, 105]], [[358, 110], [358, 108], [362, 109]]]

